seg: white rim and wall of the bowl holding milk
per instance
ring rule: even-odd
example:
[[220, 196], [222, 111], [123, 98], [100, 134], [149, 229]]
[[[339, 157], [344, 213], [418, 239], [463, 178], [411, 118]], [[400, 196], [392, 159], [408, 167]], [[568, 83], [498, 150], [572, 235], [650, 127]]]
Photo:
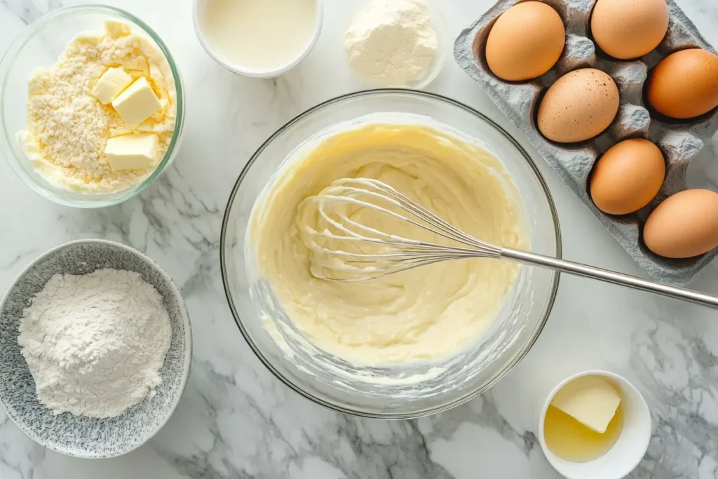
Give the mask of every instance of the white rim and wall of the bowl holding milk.
[[192, 0], [192, 23], [195, 25], [195, 34], [197, 35], [197, 39], [200, 40], [200, 45], [202, 45], [202, 48], [205, 52], [207, 52], [207, 55], [210, 55], [212, 60], [215, 60], [218, 65], [232, 73], [236, 73], [237, 75], [250, 78], [278, 77], [279, 75], [286, 73], [299, 65], [299, 63], [302, 62], [307, 55], [309, 55], [309, 52], [314, 49], [314, 45], [317, 45], [317, 40], [322, 33], [322, 24], [324, 23], [324, 0], [315, 0], [317, 3], [317, 18], [314, 23], [314, 32], [312, 34], [312, 38], [309, 40], [307, 46], [304, 50], [302, 50], [302, 53], [299, 56], [295, 57], [294, 60], [286, 65], [274, 70], [256, 70], [246, 68], [222, 55], [222, 53], [214, 45], [212, 45], [212, 42], [210, 42], [205, 36], [204, 25], [202, 23], [202, 12], [204, 11], [205, 5], [208, 1], [210, 0]]

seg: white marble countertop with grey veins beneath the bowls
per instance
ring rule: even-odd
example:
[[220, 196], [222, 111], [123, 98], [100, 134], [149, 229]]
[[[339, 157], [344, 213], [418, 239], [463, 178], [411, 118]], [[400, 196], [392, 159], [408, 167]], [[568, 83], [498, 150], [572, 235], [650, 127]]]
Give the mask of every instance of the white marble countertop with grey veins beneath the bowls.
[[[25, 24], [67, 1], [0, 0], [0, 52]], [[182, 286], [195, 336], [192, 375], [157, 437], [111, 460], [44, 450], [0, 411], [1, 479], [556, 478], [534, 435], [534, 406], [554, 381], [586, 368], [627, 376], [651, 407], [651, 446], [631, 477], [718, 477], [718, 314], [568, 276], [523, 362], [489, 394], [452, 411], [406, 422], [356, 419], [287, 389], [254, 357], [230, 316], [219, 273], [221, 216], [243, 164], [267, 136], [315, 103], [362, 87], [340, 45], [358, 1], [326, 0], [317, 47], [276, 80], [240, 78], [215, 65], [192, 31], [190, 0], [112, 3], [154, 27], [178, 60], [189, 104], [185, 143], [174, 166], [141, 197], [102, 210], [43, 200], [0, 162], [0, 290], [59, 243], [90, 237], [128, 243]], [[492, 3], [441, 0], [447, 34], [455, 37]], [[679, 4], [718, 45], [716, 1]], [[452, 60], [429, 90], [516, 132]], [[716, 152], [718, 141], [692, 165], [693, 185], [718, 187]], [[640, 274], [554, 172], [539, 166], [558, 203], [564, 256]], [[718, 264], [691, 286], [718, 294]]]

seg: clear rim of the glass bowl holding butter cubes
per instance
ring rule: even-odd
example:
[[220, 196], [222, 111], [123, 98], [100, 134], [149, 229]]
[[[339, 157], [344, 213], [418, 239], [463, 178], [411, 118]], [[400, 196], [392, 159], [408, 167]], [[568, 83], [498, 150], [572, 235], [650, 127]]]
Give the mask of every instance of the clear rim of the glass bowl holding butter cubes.
[[[51, 24], [58, 18], [63, 17], [80, 17], [83, 14], [88, 13], [103, 13], [116, 15], [123, 19], [129, 20], [133, 26], [139, 27], [145, 34], [147, 34], [152, 41], [159, 47], [160, 52], [164, 55], [169, 65], [169, 70], [172, 72], [172, 80], [174, 81], [175, 90], [175, 104], [177, 105], [177, 112], [175, 113], [174, 119], [174, 131], [172, 131], [172, 138], [169, 140], [169, 146], [167, 152], [164, 153], [162, 160], [157, 164], [157, 167], [152, 171], [148, 177], [139, 182], [133, 187], [129, 187], [121, 192], [121, 195], [111, 199], [94, 200], [93, 195], [88, 194], [86, 198], [67, 198], [59, 195], [55, 192], [45, 189], [35, 182], [27, 172], [20, 166], [19, 162], [21, 159], [17, 158], [12, 148], [10, 147], [9, 137], [10, 132], [6, 130], [4, 121], [2, 121], [2, 114], [4, 111], [4, 105], [6, 95], [2, 94], [6, 84], [7, 78], [11, 71], [11, 65], [17, 60], [17, 55], [22, 50], [22, 47], [27, 45], [32, 38], [34, 38], [39, 32], [42, 32], [44, 27]], [[78, 32], [80, 33], [80, 32]], [[174, 57], [169, 52], [169, 48], [164, 44], [159, 34], [154, 31], [148, 24], [143, 22], [139, 17], [129, 13], [129, 11], [119, 9], [115, 6], [102, 5], [102, 4], [86, 4], [86, 5], [72, 5], [72, 6], [61, 6], [58, 9], [52, 10], [49, 13], [43, 15], [39, 19], [30, 23], [15, 37], [10, 43], [4, 55], [0, 57], [0, 125], [2, 126], [2, 132], [0, 134], [0, 153], [5, 157], [5, 160], [10, 165], [10, 169], [14, 174], [24, 182], [25, 185], [29, 186], [34, 192], [39, 193], [42, 197], [47, 198], [59, 205], [73, 206], [75, 208], [104, 208], [106, 206], [117, 205], [123, 203], [123, 201], [129, 200], [135, 195], [139, 195], [140, 192], [146, 190], [159, 175], [162, 174], [164, 168], [169, 164], [169, 160], [172, 159], [175, 153], [175, 149], [178, 147], [180, 136], [182, 134], [182, 126], [185, 121], [185, 93], [182, 87], [182, 77], [180, 70], [177, 68], [177, 63], [174, 61]]]

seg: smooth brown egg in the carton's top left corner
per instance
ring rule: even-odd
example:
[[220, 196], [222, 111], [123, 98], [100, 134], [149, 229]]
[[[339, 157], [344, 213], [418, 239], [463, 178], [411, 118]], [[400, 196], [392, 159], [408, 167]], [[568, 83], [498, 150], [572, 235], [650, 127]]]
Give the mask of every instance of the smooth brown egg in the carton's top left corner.
[[486, 39], [486, 62], [503, 80], [536, 78], [559, 60], [565, 39], [564, 22], [556, 10], [525, 1], [496, 19]]

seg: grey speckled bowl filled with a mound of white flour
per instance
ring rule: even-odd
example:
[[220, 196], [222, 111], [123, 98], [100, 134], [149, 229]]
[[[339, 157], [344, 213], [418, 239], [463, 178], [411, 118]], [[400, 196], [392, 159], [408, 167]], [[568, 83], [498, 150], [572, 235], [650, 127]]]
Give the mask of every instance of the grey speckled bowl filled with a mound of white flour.
[[177, 406], [191, 358], [180, 289], [119, 243], [53, 248], [0, 302], [0, 404], [62, 454], [113, 457], [144, 444]]

